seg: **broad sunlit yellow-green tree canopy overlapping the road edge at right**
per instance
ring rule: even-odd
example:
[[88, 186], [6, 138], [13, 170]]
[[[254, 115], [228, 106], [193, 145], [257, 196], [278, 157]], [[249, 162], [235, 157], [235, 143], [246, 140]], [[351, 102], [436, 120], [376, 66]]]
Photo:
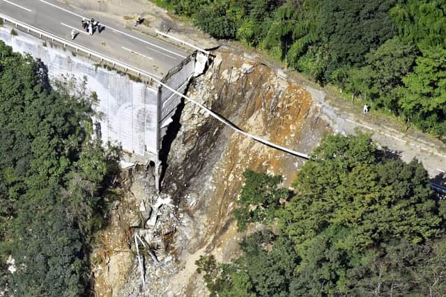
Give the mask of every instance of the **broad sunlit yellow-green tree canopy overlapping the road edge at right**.
[[376, 164], [378, 151], [370, 143], [367, 135], [327, 136], [314, 150], [314, 161], [295, 181], [295, 197], [279, 214], [296, 244], [328, 225], [354, 228], [345, 239], [353, 250], [394, 236], [415, 243], [438, 236], [442, 219], [422, 164]]

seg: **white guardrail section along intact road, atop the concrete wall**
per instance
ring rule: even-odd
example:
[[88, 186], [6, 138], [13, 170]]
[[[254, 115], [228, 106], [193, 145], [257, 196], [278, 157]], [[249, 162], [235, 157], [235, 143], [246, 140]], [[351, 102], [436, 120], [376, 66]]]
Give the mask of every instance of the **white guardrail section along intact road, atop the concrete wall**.
[[112, 64], [113, 67], [116, 67], [116, 66], [122, 67], [125, 70], [125, 72], [128, 72], [128, 70], [130, 70], [130, 71], [134, 72], [135, 74], [137, 74], [138, 77], [143, 75], [144, 77], [147, 77], [149, 79], [149, 82], [158, 81], [157, 77], [154, 74], [150, 74], [150, 73], [148, 73], [144, 70], [141, 70], [137, 67], [117, 61], [114, 58], [110, 58], [109, 56], [100, 54], [97, 51], [87, 49], [86, 47], [82, 47], [81, 45], [76, 45], [75, 43], [70, 42], [69, 40], [60, 38], [56, 35], [53, 35], [52, 33], [47, 33], [47, 32], [40, 30], [34, 26], [25, 24], [24, 22], [20, 22], [19, 20], [14, 19], [13, 17], [8, 17], [7, 15], [3, 15], [2, 13], [0, 13], [0, 19], [3, 19], [4, 22], [6, 22], [6, 21], [10, 22], [11, 24], [14, 24], [16, 27], [20, 26], [23, 29], [26, 29], [26, 31], [28, 31], [28, 32], [32, 31], [33, 33], [38, 34], [39, 38], [42, 38], [42, 36], [45, 36], [46, 38], [51, 39], [52, 42], [56, 41], [56, 42], [61, 43], [64, 47], [66, 47], [68, 45], [69, 47], [72, 47], [76, 51], [82, 51], [85, 54], [88, 54], [89, 56], [95, 56], [96, 58], [99, 58], [101, 62], [107, 61], [108, 63]]

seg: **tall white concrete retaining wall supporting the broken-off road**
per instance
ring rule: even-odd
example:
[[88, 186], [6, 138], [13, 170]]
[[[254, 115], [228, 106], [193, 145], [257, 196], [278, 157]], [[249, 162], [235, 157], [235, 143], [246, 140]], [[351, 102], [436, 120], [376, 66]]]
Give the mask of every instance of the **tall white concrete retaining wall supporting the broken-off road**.
[[[13, 36], [10, 28], [1, 27], [0, 40], [13, 47], [14, 51], [40, 58], [47, 65], [50, 78], [61, 79], [67, 75], [76, 79], [86, 77], [86, 87], [98, 95], [99, 104], [95, 111], [102, 116], [95, 120], [100, 122], [104, 143], [110, 141], [121, 145], [132, 159], [157, 161], [161, 138], [167, 129], [160, 131], [160, 127], [167, 124], [174, 114], [180, 102], [178, 95], [172, 96], [164, 88], [133, 81], [113, 70], [97, 67], [89, 58], [77, 56], [63, 47], [51, 47], [39, 38], [18, 33]], [[170, 71], [163, 82], [183, 92], [193, 72], [194, 58], [190, 57]], [[157, 99], [162, 102], [160, 109]]]

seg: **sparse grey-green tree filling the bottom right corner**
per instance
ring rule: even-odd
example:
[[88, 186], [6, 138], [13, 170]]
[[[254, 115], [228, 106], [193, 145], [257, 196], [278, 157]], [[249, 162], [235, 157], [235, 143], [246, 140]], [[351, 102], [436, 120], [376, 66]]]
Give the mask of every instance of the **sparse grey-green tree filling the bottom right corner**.
[[386, 292], [394, 296], [445, 295], [445, 243], [442, 239], [424, 245], [406, 240], [384, 244], [348, 271], [348, 278], [358, 280], [351, 292], [357, 296]]

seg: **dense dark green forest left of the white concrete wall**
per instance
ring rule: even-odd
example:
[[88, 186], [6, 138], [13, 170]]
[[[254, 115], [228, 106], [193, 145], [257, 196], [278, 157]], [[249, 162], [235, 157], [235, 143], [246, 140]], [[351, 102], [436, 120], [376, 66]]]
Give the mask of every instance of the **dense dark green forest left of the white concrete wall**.
[[54, 85], [43, 63], [0, 41], [0, 291], [13, 296], [86, 293], [118, 170], [116, 152], [90, 137], [85, 81]]

